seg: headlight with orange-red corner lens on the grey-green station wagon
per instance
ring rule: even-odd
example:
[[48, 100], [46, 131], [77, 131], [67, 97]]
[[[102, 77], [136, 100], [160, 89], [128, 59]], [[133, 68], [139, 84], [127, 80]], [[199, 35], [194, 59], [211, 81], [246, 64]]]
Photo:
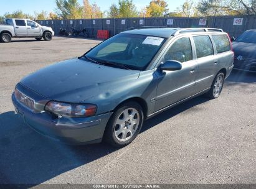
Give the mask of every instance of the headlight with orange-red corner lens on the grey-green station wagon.
[[94, 116], [97, 111], [95, 104], [75, 104], [49, 101], [45, 105], [45, 111], [60, 116], [69, 116], [75, 118]]

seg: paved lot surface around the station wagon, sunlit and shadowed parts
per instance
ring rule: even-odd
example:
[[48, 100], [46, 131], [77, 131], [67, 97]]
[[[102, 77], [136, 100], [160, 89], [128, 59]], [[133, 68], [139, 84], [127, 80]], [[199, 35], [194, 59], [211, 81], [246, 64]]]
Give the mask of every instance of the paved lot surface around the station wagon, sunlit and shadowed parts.
[[255, 73], [233, 70], [219, 98], [199, 96], [149, 119], [123, 149], [62, 145], [17, 119], [11, 93], [23, 76], [99, 42], [0, 44], [0, 183], [256, 183]]

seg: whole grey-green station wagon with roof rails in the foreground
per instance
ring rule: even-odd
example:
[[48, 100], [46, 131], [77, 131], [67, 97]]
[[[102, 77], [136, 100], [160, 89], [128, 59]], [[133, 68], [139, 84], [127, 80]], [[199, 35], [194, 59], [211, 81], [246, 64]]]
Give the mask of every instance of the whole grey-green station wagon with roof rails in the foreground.
[[127, 30], [26, 76], [12, 102], [40, 134], [122, 147], [145, 119], [201, 94], [219, 97], [233, 61], [220, 29]]

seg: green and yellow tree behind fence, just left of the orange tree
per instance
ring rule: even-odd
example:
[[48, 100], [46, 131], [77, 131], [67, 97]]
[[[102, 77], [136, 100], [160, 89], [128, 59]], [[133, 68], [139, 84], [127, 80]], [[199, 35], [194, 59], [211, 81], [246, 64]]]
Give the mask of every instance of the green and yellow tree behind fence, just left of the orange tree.
[[83, 7], [77, 0], [55, 0], [56, 14], [62, 19], [79, 19], [83, 17]]

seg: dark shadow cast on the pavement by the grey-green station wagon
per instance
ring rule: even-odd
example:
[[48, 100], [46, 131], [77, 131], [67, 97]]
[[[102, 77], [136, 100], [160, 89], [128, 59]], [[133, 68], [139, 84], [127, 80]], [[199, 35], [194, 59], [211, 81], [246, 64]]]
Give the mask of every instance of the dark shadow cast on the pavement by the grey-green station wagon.
[[[199, 96], [148, 119], [141, 130], [208, 101]], [[0, 183], [37, 185], [114, 152], [108, 144], [64, 145], [40, 136], [27, 127], [14, 111], [0, 114]]]

